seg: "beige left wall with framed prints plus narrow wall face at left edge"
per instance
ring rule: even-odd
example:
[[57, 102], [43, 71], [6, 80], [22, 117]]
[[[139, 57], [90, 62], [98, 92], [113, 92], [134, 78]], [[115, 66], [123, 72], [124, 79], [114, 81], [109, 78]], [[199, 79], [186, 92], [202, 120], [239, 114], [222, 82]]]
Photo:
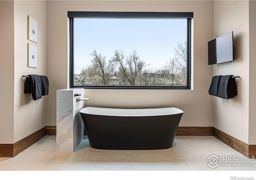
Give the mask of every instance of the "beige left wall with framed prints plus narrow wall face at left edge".
[[[46, 1], [0, 1], [0, 144], [13, 144], [46, 126], [46, 97], [24, 94], [22, 75], [46, 75]], [[38, 43], [28, 40], [28, 16], [38, 21]], [[28, 42], [38, 46], [29, 68]]]

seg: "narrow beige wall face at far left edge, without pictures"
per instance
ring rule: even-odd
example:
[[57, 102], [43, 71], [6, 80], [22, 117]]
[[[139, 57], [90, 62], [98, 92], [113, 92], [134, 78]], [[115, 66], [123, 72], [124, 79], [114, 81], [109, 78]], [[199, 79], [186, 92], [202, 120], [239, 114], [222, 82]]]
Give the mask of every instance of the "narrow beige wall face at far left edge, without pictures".
[[14, 3], [0, 1], [0, 144], [13, 142]]

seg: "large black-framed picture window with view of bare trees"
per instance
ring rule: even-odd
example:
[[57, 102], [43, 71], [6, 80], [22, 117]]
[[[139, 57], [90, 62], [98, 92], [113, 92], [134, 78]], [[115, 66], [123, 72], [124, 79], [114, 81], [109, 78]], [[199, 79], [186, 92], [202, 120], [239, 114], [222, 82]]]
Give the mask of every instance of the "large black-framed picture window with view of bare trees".
[[70, 86], [190, 89], [192, 12], [68, 12]]

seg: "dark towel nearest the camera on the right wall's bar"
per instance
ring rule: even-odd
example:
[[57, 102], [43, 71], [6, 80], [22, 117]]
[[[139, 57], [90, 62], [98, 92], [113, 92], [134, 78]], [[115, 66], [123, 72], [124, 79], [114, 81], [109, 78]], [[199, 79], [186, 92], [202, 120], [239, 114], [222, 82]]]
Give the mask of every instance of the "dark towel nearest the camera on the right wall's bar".
[[233, 75], [221, 76], [218, 89], [218, 97], [230, 99], [237, 96], [236, 79]]

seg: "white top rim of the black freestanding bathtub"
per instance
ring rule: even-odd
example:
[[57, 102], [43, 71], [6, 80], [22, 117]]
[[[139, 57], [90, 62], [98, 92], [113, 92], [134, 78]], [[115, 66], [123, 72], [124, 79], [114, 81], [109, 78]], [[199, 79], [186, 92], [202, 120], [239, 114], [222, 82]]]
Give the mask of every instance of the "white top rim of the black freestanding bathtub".
[[99, 115], [99, 116], [129, 116], [129, 117], [142, 117], [142, 116], [167, 116], [174, 114], [182, 114], [183, 111], [170, 107], [170, 108], [145, 108], [145, 109], [122, 109], [122, 108], [97, 108], [86, 107], [80, 110], [80, 113]]

